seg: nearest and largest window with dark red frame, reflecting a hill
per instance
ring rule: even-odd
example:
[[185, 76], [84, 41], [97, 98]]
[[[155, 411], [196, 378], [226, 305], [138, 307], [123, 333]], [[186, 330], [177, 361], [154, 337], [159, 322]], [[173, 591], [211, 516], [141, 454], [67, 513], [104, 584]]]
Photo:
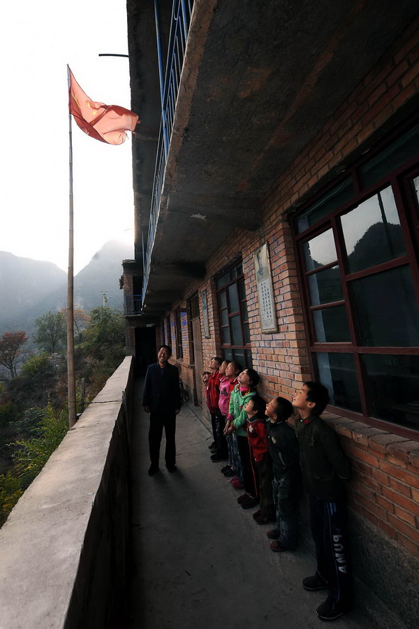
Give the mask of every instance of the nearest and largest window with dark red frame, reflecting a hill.
[[332, 405], [419, 431], [419, 125], [294, 227], [309, 350]]

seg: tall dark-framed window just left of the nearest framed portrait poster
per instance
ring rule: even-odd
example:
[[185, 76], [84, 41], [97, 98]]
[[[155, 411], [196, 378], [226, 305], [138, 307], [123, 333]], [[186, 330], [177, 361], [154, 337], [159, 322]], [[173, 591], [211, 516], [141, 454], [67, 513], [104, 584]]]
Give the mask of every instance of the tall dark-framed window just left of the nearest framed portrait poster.
[[216, 279], [223, 358], [251, 367], [249, 315], [242, 263]]

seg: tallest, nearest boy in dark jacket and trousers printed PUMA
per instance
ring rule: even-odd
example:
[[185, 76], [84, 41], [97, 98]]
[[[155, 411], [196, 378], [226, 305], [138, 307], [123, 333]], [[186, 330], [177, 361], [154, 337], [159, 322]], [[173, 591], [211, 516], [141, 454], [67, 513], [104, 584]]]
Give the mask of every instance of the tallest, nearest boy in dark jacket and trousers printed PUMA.
[[293, 405], [300, 412], [295, 428], [300, 442], [302, 481], [309, 494], [311, 534], [317, 559], [316, 574], [302, 579], [302, 586], [306, 590], [330, 588], [328, 598], [316, 609], [316, 614], [321, 620], [332, 621], [352, 607], [342, 482], [349, 479], [351, 466], [335, 431], [320, 418], [328, 401], [328, 389], [317, 382], [304, 382], [293, 398]]

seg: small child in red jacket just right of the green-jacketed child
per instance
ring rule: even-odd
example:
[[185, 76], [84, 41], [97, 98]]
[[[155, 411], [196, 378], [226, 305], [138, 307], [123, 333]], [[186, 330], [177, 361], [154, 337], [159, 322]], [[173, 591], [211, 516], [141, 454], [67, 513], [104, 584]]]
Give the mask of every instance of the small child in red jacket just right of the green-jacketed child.
[[251, 451], [251, 463], [258, 479], [260, 509], [253, 513], [258, 524], [267, 524], [275, 518], [272, 500], [272, 462], [267, 451], [266, 402], [260, 396], [253, 396], [244, 406], [247, 414], [247, 438]]

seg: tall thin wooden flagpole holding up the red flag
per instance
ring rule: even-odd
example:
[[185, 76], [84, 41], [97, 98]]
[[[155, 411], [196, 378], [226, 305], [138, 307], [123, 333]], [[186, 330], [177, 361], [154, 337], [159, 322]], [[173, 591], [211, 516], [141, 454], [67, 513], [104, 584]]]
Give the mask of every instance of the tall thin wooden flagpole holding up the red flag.
[[77, 421], [74, 375], [74, 219], [73, 219], [73, 136], [71, 131], [70, 68], [68, 78], [68, 149], [69, 149], [69, 207], [68, 207], [68, 276], [67, 276], [67, 379], [68, 379], [68, 426]]

